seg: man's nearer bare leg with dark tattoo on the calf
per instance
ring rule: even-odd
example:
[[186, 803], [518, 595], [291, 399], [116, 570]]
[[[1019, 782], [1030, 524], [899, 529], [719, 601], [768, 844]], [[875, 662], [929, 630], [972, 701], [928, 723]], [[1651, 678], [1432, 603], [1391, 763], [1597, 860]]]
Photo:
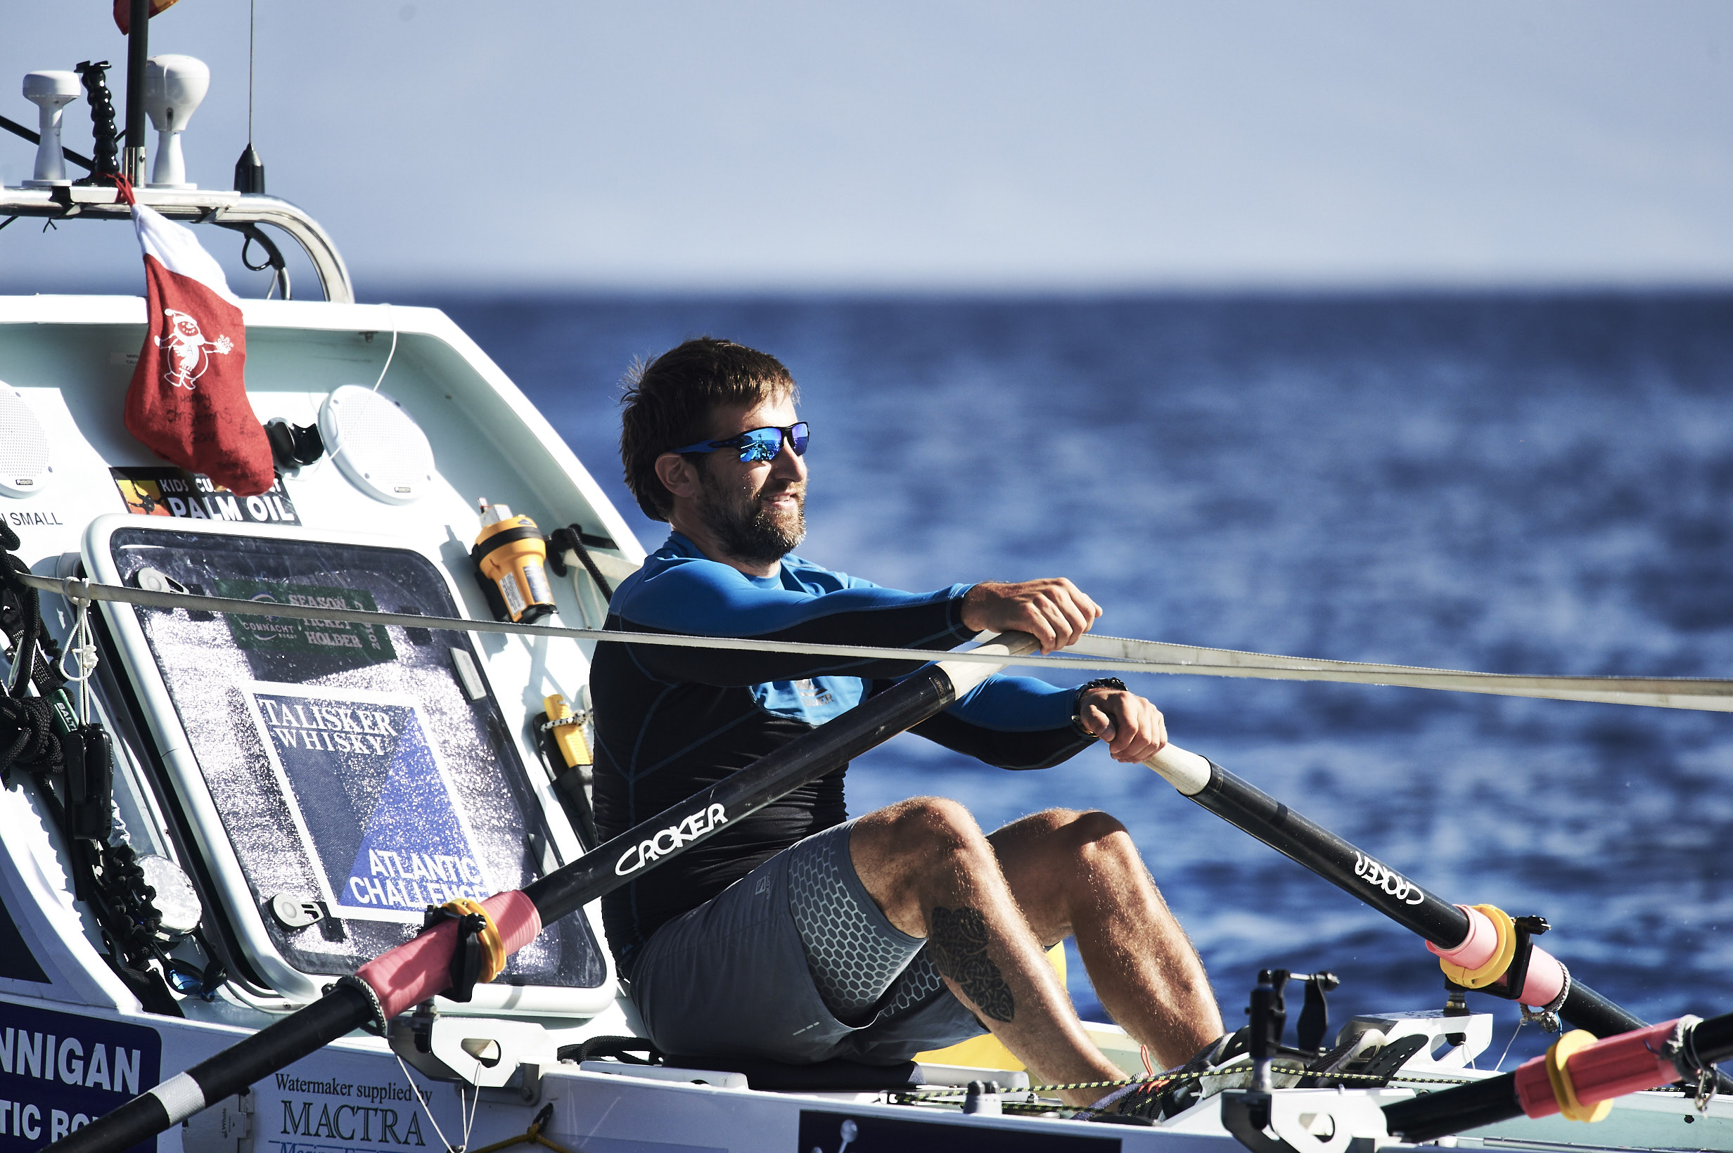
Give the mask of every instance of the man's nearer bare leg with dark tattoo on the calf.
[[[866, 814], [849, 834], [849, 855], [891, 923], [931, 940], [932, 961], [951, 992], [1038, 1077], [1078, 1082], [1125, 1075], [1083, 1032], [969, 810], [917, 796]], [[1021, 867], [1038, 853], [1014, 855]], [[1100, 1091], [1061, 1096], [1092, 1105]]]

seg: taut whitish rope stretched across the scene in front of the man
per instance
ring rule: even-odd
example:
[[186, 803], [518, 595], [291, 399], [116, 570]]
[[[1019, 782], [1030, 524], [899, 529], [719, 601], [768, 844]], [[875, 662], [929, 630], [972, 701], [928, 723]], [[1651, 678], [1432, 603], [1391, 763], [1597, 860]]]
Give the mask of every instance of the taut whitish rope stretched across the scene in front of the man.
[[[284, 616], [296, 620], [341, 620], [364, 625], [397, 625], [400, 628], [444, 628], [454, 632], [503, 632], [532, 637], [567, 637], [572, 641], [617, 641], [695, 649], [728, 649], [750, 653], [797, 653], [806, 656], [841, 656], [856, 661], [920, 661], [936, 660], [938, 653], [922, 649], [879, 647], [861, 644], [804, 644], [792, 641], [749, 641], [743, 637], [691, 637], [657, 632], [605, 632], [601, 628], [567, 628], [560, 625], [518, 625], [494, 620], [463, 620], [456, 616], [419, 616], [409, 613], [376, 613], [367, 609], [314, 608], [300, 604], [262, 604], [230, 597], [203, 597], [191, 592], [147, 592], [121, 585], [102, 585], [78, 578], [50, 578], [19, 573], [17, 580], [43, 592], [62, 597], [88, 597], [94, 601], [120, 601], [146, 608], [203, 609], [208, 613], [236, 613], [244, 616]], [[1691, 677], [1529, 677], [1516, 673], [1480, 673], [1454, 668], [1418, 668], [1412, 665], [1371, 665], [1359, 661], [1326, 661], [1303, 656], [1275, 656], [1269, 653], [1239, 653], [1234, 649], [1206, 649], [1163, 641], [1135, 641], [1130, 637], [1085, 635], [1071, 646], [1068, 656], [1017, 656], [1014, 665], [1038, 668], [1064, 668], [1071, 672], [1111, 673], [1185, 673], [1196, 677], [1255, 677], [1263, 680], [1327, 680], [1341, 684], [1383, 684], [1409, 689], [1438, 689], [1447, 692], [1480, 692], [1490, 696], [1523, 696], [1555, 701], [1605, 701], [1613, 705], [1643, 705], [1652, 708], [1690, 708], [1702, 712], [1733, 712], [1733, 680]], [[1005, 665], [1002, 654], [950, 651], [946, 661]]]

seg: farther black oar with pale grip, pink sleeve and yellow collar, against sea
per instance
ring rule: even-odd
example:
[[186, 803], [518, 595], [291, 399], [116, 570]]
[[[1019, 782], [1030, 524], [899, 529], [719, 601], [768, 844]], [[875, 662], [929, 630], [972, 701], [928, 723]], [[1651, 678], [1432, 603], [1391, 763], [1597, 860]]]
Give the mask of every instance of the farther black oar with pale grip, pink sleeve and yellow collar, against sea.
[[[1229, 824], [1419, 933], [1456, 983], [1485, 990], [1515, 978], [1518, 990], [1501, 987], [1496, 992], [1515, 992], [1513, 999], [1522, 1004], [1546, 1006], [1596, 1037], [1646, 1027], [1572, 976], [1544, 949], [1530, 949], [1527, 973], [1511, 973], [1518, 926], [1503, 911], [1444, 900], [1213, 760], [1166, 744], [1144, 765]], [[1733, 1089], [1733, 1080], [1723, 1077], [1723, 1085]]]

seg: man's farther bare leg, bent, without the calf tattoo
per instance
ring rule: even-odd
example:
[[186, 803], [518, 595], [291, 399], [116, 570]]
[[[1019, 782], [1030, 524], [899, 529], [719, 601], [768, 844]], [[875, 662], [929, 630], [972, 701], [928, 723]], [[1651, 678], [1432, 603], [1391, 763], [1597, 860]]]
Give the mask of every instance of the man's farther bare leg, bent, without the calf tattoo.
[[1036, 940], [1076, 938], [1102, 1008], [1149, 1046], [1158, 1068], [1222, 1035], [1203, 961], [1123, 824], [1104, 812], [1050, 808], [988, 841]]

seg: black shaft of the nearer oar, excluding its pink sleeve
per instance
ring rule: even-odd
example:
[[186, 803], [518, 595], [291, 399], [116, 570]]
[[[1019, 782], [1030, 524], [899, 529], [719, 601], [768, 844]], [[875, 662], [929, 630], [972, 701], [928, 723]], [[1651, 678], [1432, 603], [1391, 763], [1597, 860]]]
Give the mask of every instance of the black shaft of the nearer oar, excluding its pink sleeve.
[[[1000, 637], [1000, 644], [1007, 646], [1009, 653], [1033, 647], [1033, 642], [1021, 634], [1007, 634]], [[709, 840], [730, 824], [932, 717], [957, 699], [958, 680], [977, 684], [990, 672], [991, 667], [984, 665], [922, 668], [870, 701], [790, 741], [750, 769], [724, 777], [698, 796], [650, 817], [563, 869], [527, 885], [523, 895], [535, 904], [544, 924], [575, 912], [645, 869], [683, 853], [691, 845]], [[366, 994], [338, 985], [314, 1004], [73, 1130], [49, 1150], [120, 1153], [206, 1105], [317, 1053], [371, 1018], [373, 1006]]]

